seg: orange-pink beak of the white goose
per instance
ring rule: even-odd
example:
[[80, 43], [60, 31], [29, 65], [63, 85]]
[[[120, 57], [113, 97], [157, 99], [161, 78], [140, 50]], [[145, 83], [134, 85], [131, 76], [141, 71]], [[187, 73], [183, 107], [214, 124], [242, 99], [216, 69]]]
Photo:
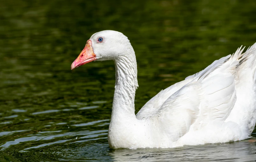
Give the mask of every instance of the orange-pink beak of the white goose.
[[72, 63], [71, 70], [73, 70], [76, 67], [80, 67], [81, 65], [84, 65], [86, 63], [92, 62], [93, 60], [97, 60], [97, 59], [92, 49], [92, 41], [87, 40], [84, 49], [79, 54], [79, 56], [75, 59], [75, 61]]

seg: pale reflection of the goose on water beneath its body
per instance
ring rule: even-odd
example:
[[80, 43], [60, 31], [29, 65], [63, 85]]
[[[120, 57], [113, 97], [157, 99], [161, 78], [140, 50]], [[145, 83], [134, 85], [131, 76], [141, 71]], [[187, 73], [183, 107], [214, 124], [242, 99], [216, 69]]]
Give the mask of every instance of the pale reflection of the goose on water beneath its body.
[[115, 150], [116, 160], [128, 161], [254, 161], [255, 143], [206, 144], [172, 149]]

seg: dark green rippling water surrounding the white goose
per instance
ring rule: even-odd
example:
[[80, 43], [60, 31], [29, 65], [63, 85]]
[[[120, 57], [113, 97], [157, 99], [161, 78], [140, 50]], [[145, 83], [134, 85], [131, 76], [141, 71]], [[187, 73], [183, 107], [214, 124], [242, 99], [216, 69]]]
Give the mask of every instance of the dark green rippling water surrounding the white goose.
[[113, 61], [70, 70], [93, 33], [123, 32], [137, 57], [137, 113], [161, 89], [256, 42], [254, 0], [0, 3], [0, 161], [256, 159], [254, 140], [111, 150]]

